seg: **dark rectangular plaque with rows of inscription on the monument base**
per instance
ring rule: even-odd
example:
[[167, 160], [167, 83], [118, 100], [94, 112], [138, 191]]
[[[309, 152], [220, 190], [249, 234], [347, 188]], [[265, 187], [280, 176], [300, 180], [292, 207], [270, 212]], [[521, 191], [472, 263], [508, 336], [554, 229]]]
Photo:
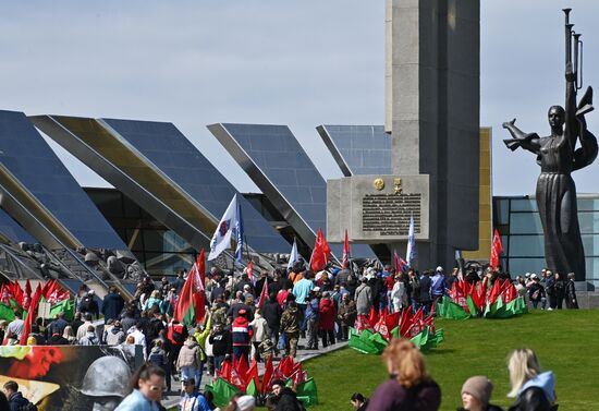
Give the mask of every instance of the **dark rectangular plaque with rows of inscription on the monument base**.
[[379, 235], [407, 235], [409, 217], [420, 233], [421, 194], [366, 194], [362, 198], [362, 231]]

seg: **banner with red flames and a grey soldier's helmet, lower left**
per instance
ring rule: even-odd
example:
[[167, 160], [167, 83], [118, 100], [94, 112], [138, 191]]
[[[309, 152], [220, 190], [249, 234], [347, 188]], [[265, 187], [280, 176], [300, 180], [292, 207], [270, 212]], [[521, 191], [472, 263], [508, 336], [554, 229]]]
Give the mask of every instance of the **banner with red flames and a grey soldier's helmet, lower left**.
[[135, 346], [0, 347], [0, 386], [9, 380], [39, 411], [114, 410], [142, 355]]

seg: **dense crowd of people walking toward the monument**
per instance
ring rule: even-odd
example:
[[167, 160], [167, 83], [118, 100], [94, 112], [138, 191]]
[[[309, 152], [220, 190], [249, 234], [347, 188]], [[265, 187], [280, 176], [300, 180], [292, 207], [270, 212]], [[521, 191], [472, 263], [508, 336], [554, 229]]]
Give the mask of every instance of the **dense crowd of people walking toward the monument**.
[[[479, 281], [485, 276], [493, 281], [506, 275], [490, 269], [470, 271], [462, 277], [457, 268], [447, 275], [442, 267], [421, 274], [414, 269], [395, 273], [391, 266], [365, 267], [358, 271], [331, 268], [313, 273], [304, 262], [295, 262], [291, 269], [262, 270], [259, 276], [247, 270], [235, 274], [212, 268], [206, 274], [204, 285], [205, 319], [186, 326], [173, 318], [186, 279], [185, 271], [181, 270], [174, 279], [164, 277], [160, 282], [144, 278], [129, 302], [113, 287], [103, 299], [99, 299], [84, 286], [76, 295], [74, 318], [69, 321], [64, 313], [58, 314], [49, 324], [37, 318], [27, 343], [140, 346], [144, 359], [151, 367], [138, 379], [146, 380], [150, 378], [147, 373], [160, 370], [161, 374], [156, 375], [163, 376], [164, 384], [152, 384], [151, 387], [172, 391], [171, 382], [175, 377], [182, 384], [184, 398], [197, 392], [203, 376], [215, 375], [224, 361], [243, 358], [246, 363], [252, 360], [260, 362], [269, 354], [295, 356], [301, 337], [305, 338], [305, 349], [326, 348], [347, 340], [350, 327], [355, 325], [356, 318], [368, 316], [372, 309], [392, 313], [406, 307], [416, 312], [423, 307], [428, 313], [451, 290], [454, 281], [461, 278]], [[542, 271], [542, 279], [534, 274], [518, 276], [516, 289], [530, 300], [534, 307], [539, 303], [545, 307], [547, 297], [548, 310], [560, 309], [564, 300], [567, 307], [577, 307], [573, 279], [564, 281], [549, 270]], [[98, 321], [101, 316], [103, 321]], [[14, 321], [0, 323], [0, 338], [8, 343], [17, 343], [24, 329], [21, 313], [15, 312]], [[418, 360], [416, 352], [405, 343], [393, 343], [386, 352], [386, 361], [393, 372], [402, 371], [403, 363], [391, 363], [391, 359], [412, 355], [412, 361]], [[425, 372], [420, 365], [417, 367], [418, 373]], [[417, 382], [398, 382], [400, 386], [407, 384], [409, 387], [425, 380], [428, 382], [426, 374], [421, 374]], [[392, 394], [396, 386], [390, 385], [387, 389]], [[436, 389], [432, 384], [427, 392]], [[360, 396], [356, 394], [352, 398], [357, 409], [366, 404]], [[379, 395], [375, 395], [369, 407], [379, 407], [372, 406], [378, 401]], [[213, 409], [213, 404], [210, 407], [209, 399], [194, 400], [192, 409]]]

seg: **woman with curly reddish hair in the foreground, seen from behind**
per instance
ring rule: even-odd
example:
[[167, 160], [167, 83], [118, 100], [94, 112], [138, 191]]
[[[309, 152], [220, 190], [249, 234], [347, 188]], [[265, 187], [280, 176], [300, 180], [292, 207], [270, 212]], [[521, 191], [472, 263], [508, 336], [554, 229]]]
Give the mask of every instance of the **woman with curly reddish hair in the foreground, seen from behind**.
[[436, 411], [441, 389], [427, 373], [425, 359], [409, 340], [393, 339], [382, 353], [390, 378], [378, 386], [369, 411]]

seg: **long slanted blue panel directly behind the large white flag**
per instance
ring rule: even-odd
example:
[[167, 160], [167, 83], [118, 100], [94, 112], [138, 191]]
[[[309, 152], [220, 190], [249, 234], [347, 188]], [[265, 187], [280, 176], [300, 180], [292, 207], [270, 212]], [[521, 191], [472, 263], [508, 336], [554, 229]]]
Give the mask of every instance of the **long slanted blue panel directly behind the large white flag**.
[[[102, 120], [216, 219], [221, 218], [237, 191], [172, 123]], [[243, 196], [240, 198], [248, 245], [259, 252], [289, 252], [289, 243]]]

